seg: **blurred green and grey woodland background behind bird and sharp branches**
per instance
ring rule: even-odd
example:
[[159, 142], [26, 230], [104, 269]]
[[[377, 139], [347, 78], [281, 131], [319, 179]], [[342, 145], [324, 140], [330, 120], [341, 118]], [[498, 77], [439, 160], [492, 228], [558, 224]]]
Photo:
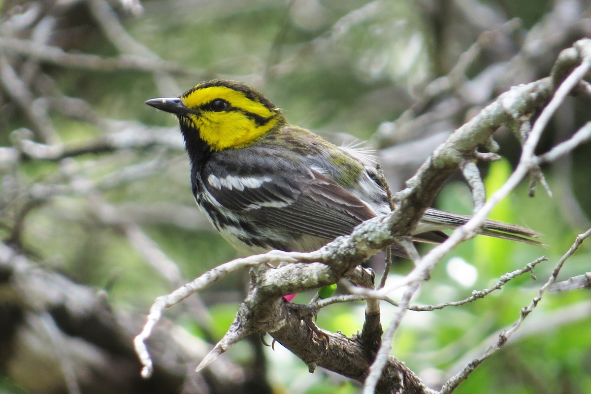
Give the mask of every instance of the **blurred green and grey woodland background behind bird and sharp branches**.
[[[400, 190], [450, 132], [591, 36], [588, 0], [0, 0], [0, 10], [2, 394], [359, 392], [258, 337], [194, 372], [233, 320], [247, 272], [167, 310], [150, 343], [155, 375], [139, 378], [131, 340], [152, 301], [238, 257], [194, 204], [176, 119], [144, 101], [242, 80], [291, 123], [337, 144], [364, 141]], [[569, 97], [538, 151], [589, 121], [590, 105]], [[504, 159], [482, 164], [489, 194], [520, 151], [511, 129], [495, 138]], [[591, 227], [590, 168], [587, 144], [543, 168], [553, 196], [528, 197], [524, 181], [492, 214], [543, 233], [547, 248], [478, 237], [436, 268], [418, 304], [469, 297], [549, 259], [537, 281], [526, 274], [462, 307], [408, 313], [392, 352], [427, 385], [482, 354]], [[472, 212], [460, 177], [435, 204]], [[559, 279], [591, 271], [590, 261], [583, 244]], [[397, 261], [391, 276], [410, 268]], [[393, 311], [384, 306], [382, 324]], [[456, 392], [591, 392], [590, 315], [587, 289], [545, 295]], [[327, 307], [317, 324], [350, 336], [363, 304]]]

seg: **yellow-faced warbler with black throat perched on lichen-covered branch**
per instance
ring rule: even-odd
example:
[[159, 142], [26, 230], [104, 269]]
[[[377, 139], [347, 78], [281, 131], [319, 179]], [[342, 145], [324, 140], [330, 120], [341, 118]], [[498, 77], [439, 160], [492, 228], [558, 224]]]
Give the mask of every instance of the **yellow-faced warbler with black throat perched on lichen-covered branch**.
[[[199, 207], [236, 249], [316, 250], [391, 210], [376, 159], [290, 125], [281, 109], [241, 82], [210, 80], [178, 97], [145, 102], [177, 116]], [[413, 239], [443, 242], [469, 216], [427, 209]], [[487, 220], [481, 234], [538, 244], [538, 233]], [[394, 247], [395, 255], [405, 256]]]

